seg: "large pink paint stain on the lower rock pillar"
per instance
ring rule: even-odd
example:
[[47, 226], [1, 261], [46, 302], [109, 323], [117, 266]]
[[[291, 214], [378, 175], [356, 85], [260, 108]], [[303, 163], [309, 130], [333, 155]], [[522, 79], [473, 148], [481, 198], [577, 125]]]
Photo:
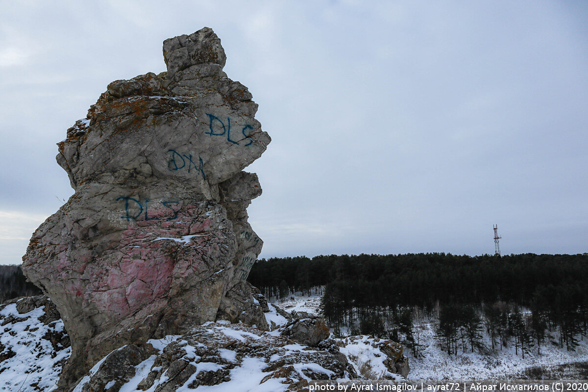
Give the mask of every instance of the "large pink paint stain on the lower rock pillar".
[[[83, 290], [86, 301], [101, 312], [128, 316], [166, 299], [173, 282], [208, 269], [203, 257], [218, 259], [215, 255], [226, 234], [222, 230], [210, 231], [214, 220], [203, 212], [202, 207], [191, 205], [188, 210], [176, 212], [178, 216], [171, 221], [145, 220], [142, 216], [136, 226], [129, 225], [116, 247], [120, 256], [112, 260], [108, 269], [93, 270]], [[183, 240], [186, 235], [195, 237], [189, 242], [172, 240]]]

